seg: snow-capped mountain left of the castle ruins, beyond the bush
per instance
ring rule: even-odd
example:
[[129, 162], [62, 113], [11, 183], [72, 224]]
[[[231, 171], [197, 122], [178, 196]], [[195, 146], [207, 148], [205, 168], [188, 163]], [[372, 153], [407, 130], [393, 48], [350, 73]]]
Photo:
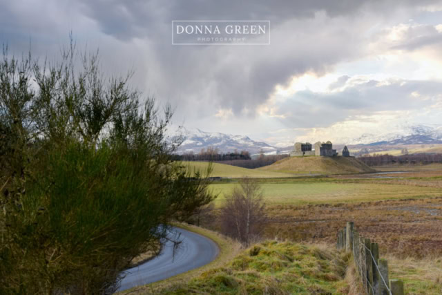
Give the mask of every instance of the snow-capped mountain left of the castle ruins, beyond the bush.
[[266, 154], [276, 153], [278, 148], [271, 146], [265, 142], [256, 142], [247, 136], [231, 135], [218, 132], [204, 132], [200, 129], [184, 129], [182, 132], [184, 142], [182, 142], [180, 153], [188, 153], [193, 151], [198, 153], [201, 149], [213, 147], [218, 149], [220, 153], [227, 153], [231, 151], [249, 151], [249, 153], [259, 153], [261, 150]]

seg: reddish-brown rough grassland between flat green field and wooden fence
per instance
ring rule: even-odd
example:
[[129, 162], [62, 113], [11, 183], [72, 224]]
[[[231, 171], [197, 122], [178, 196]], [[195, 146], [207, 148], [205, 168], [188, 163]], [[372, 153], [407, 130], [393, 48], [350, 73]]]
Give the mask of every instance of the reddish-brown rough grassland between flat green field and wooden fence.
[[268, 207], [267, 237], [336, 242], [336, 232], [352, 220], [381, 251], [415, 257], [442, 254], [442, 198], [385, 200], [357, 204], [275, 205]]

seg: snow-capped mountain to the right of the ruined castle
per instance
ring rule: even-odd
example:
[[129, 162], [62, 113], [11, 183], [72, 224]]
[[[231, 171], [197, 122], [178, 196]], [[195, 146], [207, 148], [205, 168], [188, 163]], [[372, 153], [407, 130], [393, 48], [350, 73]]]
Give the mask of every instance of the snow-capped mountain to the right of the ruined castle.
[[441, 144], [442, 126], [419, 124], [393, 126], [384, 133], [364, 133], [349, 144], [396, 145], [396, 144]]

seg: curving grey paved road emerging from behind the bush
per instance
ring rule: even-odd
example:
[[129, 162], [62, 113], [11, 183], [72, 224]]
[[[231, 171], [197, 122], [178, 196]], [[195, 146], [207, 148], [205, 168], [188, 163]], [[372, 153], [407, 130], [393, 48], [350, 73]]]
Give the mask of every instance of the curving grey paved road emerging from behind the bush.
[[182, 240], [179, 249], [175, 250], [175, 256], [173, 242], [167, 241], [160, 255], [125, 271], [126, 277], [123, 278], [119, 291], [176, 276], [206, 265], [218, 256], [220, 250], [213, 240], [177, 227], [172, 231], [181, 234]]

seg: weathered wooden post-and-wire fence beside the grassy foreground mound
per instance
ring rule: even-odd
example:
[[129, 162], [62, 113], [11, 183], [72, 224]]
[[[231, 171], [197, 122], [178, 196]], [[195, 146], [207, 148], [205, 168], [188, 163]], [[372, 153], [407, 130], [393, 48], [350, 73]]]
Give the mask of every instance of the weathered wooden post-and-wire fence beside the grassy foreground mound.
[[389, 280], [388, 263], [387, 260], [379, 258], [378, 243], [361, 236], [354, 229], [353, 222], [347, 222], [347, 227], [338, 231], [336, 247], [352, 252], [365, 294], [404, 294], [401, 280]]

